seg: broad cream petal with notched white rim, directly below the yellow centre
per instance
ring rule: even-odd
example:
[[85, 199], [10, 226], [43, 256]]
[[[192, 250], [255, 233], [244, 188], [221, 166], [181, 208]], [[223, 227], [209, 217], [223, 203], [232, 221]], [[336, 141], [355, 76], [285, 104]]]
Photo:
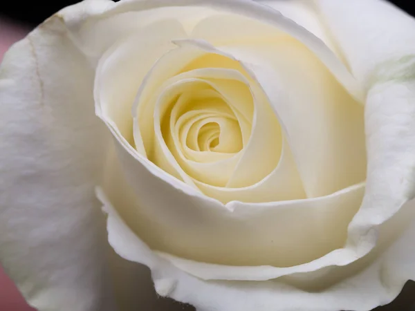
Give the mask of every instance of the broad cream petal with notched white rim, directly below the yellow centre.
[[[111, 161], [104, 189], [115, 192], [116, 199], [111, 202], [151, 249], [206, 263], [273, 266], [270, 273], [247, 269], [239, 276], [254, 280], [344, 265], [356, 259], [353, 252], [341, 247], [347, 225], [360, 207], [362, 185], [309, 200], [222, 205], [177, 187], [183, 182], [176, 181], [172, 185], [177, 186], [172, 187], [167, 180], [172, 176], [154, 176], [152, 166], [137, 161], [120, 144], [117, 148], [128, 182], [117, 177], [120, 172]], [[130, 187], [131, 194], [125, 195]], [[335, 233], [328, 235], [331, 231]], [[306, 264], [309, 261], [313, 263]], [[211, 277], [219, 274], [212, 272]]]

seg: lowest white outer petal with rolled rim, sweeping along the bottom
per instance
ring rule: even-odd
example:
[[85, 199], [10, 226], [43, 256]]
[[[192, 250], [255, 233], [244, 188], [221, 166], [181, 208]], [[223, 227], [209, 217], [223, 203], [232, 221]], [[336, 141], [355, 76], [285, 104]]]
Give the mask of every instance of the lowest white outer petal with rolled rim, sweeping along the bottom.
[[[190, 303], [198, 311], [368, 311], [392, 301], [405, 283], [404, 279], [415, 276], [412, 265], [414, 252], [407, 252], [415, 234], [414, 223], [411, 221], [415, 216], [414, 202], [409, 202], [400, 213], [382, 226], [380, 243], [374, 256], [353, 265], [328, 270], [320, 276], [297, 274], [297, 281], [300, 280], [303, 287], [306, 283], [311, 283], [312, 286], [317, 283], [317, 286], [324, 289], [315, 291], [295, 285], [297, 281], [294, 276], [293, 279], [273, 281], [230, 282], [203, 281], [187, 274], [169, 264], [163, 256], [152, 252], [129, 229], [118, 210], [111, 205], [111, 198], [116, 200], [116, 196], [116, 192], [113, 192], [107, 197], [102, 189], [98, 189], [98, 197], [109, 214], [107, 229], [113, 248], [123, 258], [150, 267], [160, 296], [170, 296]], [[400, 227], [400, 230], [396, 230], [396, 227]], [[392, 246], [391, 241], [395, 241]], [[412, 247], [409, 246], [409, 249]], [[214, 267], [210, 267], [212, 268]], [[349, 278], [345, 279], [346, 276]], [[330, 286], [333, 281], [342, 278], [344, 281]], [[194, 294], [189, 294], [190, 292]]]

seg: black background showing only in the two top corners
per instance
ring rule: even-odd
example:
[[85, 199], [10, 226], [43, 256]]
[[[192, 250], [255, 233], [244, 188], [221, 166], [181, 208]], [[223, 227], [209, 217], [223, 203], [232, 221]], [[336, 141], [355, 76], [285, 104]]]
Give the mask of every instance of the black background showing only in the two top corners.
[[[347, 0], [343, 0], [347, 1]], [[365, 0], [361, 0], [365, 1]], [[0, 15], [10, 17], [17, 21], [28, 23], [31, 26], [44, 21], [46, 18], [53, 15], [64, 6], [69, 6], [80, 1], [76, 0], [0, 0]], [[391, 0], [389, 2], [395, 3], [409, 14], [415, 16], [415, 1], [414, 0]]]

